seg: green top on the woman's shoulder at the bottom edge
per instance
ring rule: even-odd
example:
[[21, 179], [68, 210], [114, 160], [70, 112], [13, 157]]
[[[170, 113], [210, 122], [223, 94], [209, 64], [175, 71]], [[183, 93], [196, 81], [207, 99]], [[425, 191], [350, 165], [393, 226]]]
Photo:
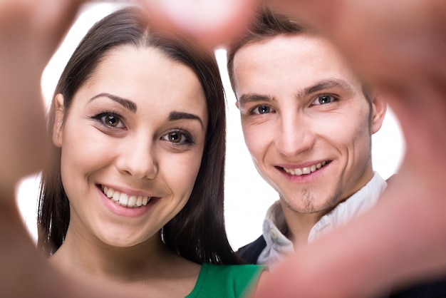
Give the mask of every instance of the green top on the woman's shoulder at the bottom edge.
[[256, 287], [260, 265], [202, 264], [197, 284], [187, 298], [192, 297], [246, 297]]

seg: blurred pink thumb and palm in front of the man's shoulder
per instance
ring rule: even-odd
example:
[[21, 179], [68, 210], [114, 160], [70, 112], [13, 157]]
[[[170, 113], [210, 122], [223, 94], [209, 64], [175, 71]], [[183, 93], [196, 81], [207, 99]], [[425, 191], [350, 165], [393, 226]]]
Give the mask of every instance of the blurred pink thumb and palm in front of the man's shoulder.
[[446, 277], [445, 94], [435, 84], [385, 94], [406, 140], [398, 174], [367, 214], [261, 280], [256, 298], [379, 297]]

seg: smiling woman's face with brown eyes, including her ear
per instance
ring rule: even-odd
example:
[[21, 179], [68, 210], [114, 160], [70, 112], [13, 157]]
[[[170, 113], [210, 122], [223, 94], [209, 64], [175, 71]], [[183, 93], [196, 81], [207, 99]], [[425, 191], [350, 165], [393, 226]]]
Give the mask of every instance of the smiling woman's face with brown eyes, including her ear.
[[[56, 100], [60, 105], [63, 96]], [[156, 235], [190, 197], [207, 121], [189, 67], [155, 48], [107, 53], [70, 110], [56, 112], [69, 230], [115, 247]]]

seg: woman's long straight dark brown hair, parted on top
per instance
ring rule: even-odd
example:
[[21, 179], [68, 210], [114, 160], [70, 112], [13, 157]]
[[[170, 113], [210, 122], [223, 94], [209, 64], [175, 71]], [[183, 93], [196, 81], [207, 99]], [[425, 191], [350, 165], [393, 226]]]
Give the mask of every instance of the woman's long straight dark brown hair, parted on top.
[[[117, 46], [157, 48], [167, 58], [190, 67], [199, 78], [207, 101], [206, 142], [192, 195], [185, 207], [162, 228], [162, 240], [178, 255], [193, 262], [236, 264], [239, 259], [229, 245], [224, 228], [226, 118], [224, 90], [214, 53], [182, 36], [152, 28], [146, 19], [142, 10], [128, 7], [98, 21], [71, 56], [54, 94], [63, 95], [64, 110], [68, 112], [75, 93], [94, 76], [101, 58]], [[53, 98], [48, 119], [50, 140], [55, 112]], [[47, 256], [61, 247], [70, 220], [68, 197], [61, 180], [61, 148], [52, 143], [50, 147], [51, 163], [43, 170], [38, 202], [38, 247]]]

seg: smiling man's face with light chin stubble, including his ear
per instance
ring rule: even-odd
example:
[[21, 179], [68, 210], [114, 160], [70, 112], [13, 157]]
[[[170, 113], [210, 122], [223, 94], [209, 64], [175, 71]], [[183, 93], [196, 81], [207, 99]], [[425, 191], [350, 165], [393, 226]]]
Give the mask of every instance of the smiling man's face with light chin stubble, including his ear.
[[385, 103], [370, 108], [331, 43], [300, 35], [244, 46], [234, 82], [254, 164], [289, 210], [326, 213], [372, 178]]

